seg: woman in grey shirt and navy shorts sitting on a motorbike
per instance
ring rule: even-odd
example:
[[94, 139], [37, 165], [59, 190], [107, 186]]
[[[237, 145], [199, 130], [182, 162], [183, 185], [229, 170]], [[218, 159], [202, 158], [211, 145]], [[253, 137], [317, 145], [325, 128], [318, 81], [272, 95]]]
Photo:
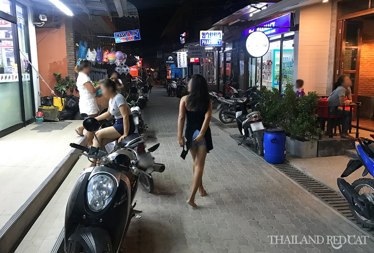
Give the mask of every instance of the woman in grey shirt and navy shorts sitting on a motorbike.
[[[100, 149], [105, 150], [105, 145], [118, 139], [118, 142], [122, 141], [126, 136], [135, 132], [135, 124], [132, 118], [131, 110], [126, 102], [126, 99], [119, 93], [117, 93], [117, 79], [105, 78], [99, 81], [101, 85], [102, 96], [109, 99], [108, 111], [101, 114], [96, 120], [104, 120], [113, 115], [116, 119], [116, 123], [111, 127], [100, 129], [96, 132], [96, 136], [100, 143]], [[96, 138], [93, 139], [93, 146], [98, 147], [98, 141]], [[91, 163], [91, 166], [96, 166], [95, 163]]]

